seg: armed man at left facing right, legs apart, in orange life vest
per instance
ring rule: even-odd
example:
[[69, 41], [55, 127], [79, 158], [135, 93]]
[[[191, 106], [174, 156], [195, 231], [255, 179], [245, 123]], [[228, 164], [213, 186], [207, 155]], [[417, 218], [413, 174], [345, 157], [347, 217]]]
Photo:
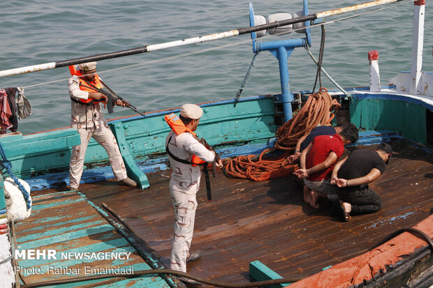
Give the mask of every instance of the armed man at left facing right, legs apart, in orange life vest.
[[[72, 190], [80, 185], [85, 154], [90, 138], [101, 144], [110, 158], [112, 172], [119, 184], [135, 187], [137, 183], [126, 174], [126, 169], [115, 136], [112, 134], [101, 109], [100, 103], [107, 100], [103, 94], [94, 89], [101, 88], [101, 78], [96, 74], [96, 62], [82, 63], [75, 71], [70, 66], [73, 76], [68, 80], [69, 96], [71, 96], [71, 127], [78, 130], [81, 144], [72, 147], [69, 163], [69, 181]], [[126, 106], [122, 100], [116, 105]]]

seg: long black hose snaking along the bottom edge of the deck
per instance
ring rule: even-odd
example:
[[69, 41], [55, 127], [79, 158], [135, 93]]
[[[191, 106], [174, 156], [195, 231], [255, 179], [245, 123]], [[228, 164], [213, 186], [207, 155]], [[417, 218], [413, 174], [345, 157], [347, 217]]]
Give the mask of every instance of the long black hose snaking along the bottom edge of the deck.
[[126, 274], [126, 275], [119, 275], [119, 274], [90, 275], [90, 276], [76, 277], [76, 278], [70, 278], [70, 279], [36, 282], [36, 283], [32, 283], [32, 284], [27, 284], [27, 285], [21, 285], [20, 287], [22, 287], [22, 288], [44, 287], [44, 286], [50, 286], [50, 285], [61, 285], [61, 284], [66, 284], [66, 283], [97, 280], [97, 279], [104, 279], [104, 278], [115, 278], [115, 277], [135, 278], [135, 277], [140, 276], [140, 275], [151, 275], [151, 274], [172, 274], [172, 275], [177, 275], [179, 277], [186, 277], [186, 278], [189, 278], [192, 280], [196, 280], [198, 282], [202, 282], [202, 283], [207, 284], [207, 285], [213, 285], [216, 287], [226, 287], [226, 288], [260, 287], [260, 286], [276, 285], [276, 284], [283, 284], [283, 283], [293, 283], [293, 282], [296, 282], [296, 281], [303, 279], [303, 278], [280, 278], [280, 279], [265, 280], [265, 281], [260, 281], [260, 282], [232, 284], [232, 283], [227, 283], [227, 282], [218, 282], [218, 281], [208, 280], [206, 278], [197, 277], [197, 276], [191, 275], [189, 273], [184, 273], [184, 272], [170, 270], [170, 269], [150, 269], [150, 270], [145, 270], [145, 271], [134, 271], [134, 273]]

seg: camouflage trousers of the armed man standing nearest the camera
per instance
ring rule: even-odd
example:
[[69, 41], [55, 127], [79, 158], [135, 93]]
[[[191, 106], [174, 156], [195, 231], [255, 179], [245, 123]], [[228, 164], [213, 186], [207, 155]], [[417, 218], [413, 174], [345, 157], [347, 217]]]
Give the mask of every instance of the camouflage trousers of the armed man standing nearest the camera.
[[170, 268], [186, 272], [186, 255], [194, 232], [196, 218], [198, 184], [193, 183], [184, 189], [179, 189], [179, 183], [170, 181], [170, 195], [175, 209], [175, 233], [173, 235]]

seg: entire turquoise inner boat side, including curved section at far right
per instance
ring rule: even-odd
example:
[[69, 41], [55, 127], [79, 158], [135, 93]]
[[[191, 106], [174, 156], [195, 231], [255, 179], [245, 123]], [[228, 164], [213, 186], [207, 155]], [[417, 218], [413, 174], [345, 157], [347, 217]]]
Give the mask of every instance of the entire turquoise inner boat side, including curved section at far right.
[[[198, 127], [199, 137], [211, 145], [242, 144], [274, 137], [274, 97], [250, 97], [237, 103], [218, 101], [204, 103]], [[129, 174], [147, 188], [149, 183], [135, 161], [165, 152], [165, 137], [170, 131], [164, 115], [178, 112], [170, 109], [149, 116], [132, 116], [110, 121]], [[349, 100], [351, 122], [360, 130], [388, 130], [400, 133], [420, 144], [427, 143], [427, 109], [404, 100], [353, 98]], [[31, 135], [1, 137], [13, 172], [21, 179], [50, 172], [65, 171], [71, 158], [71, 147], [80, 142], [76, 130], [64, 128]], [[108, 156], [101, 145], [91, 139], [87, 148], [86, 167], [106, 165]]]

